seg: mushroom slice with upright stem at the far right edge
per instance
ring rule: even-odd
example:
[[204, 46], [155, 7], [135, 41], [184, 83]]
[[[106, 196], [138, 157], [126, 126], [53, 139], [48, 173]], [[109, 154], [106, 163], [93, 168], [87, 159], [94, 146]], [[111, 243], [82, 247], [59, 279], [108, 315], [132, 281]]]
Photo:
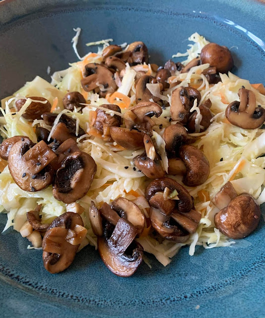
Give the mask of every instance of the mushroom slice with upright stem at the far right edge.
[[256, 107], [256, 96], [252, 90], [240, 88], [238, 91], [239, 101], [230, 103], [225, 111], [227, 120], [243, 129], [256, 129], [265, 121], [265, 109]]

